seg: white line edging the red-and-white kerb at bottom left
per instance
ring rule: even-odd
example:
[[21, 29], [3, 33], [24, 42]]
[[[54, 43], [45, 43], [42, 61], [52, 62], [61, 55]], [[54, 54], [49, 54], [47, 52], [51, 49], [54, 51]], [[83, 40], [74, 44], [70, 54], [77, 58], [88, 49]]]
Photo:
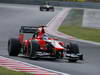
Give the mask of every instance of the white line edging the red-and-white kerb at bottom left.
[[29, 63], [26, 63], [26, 62], [22, 62], [22, 61], [18, 61], [18, 60], [15, 60], [15, 59], [11, 59], [11, 58], [6, 58], [6, 57], [3, 57], [3, 56], [0, 56], [0, 58], [5, 58], [5, 59], [8, 59], [8, 60], [13, 60], [13, 61], [16, 61], [16, 62], [19, 62], [19, 63], [23, 63], [24, 65], [28, 65], [30, 67], [36, 67], [36, 68], [39, 68], [39, 69], [43, 69], [43, 70], [46, 70], [48, 72], [53, 72], [53, 73], [57, 73], [58, 75], [70, 75], [68, 73], [63, 73], [63, 72], [58, 72], [58, 71], [55, 71], [55, 70], [50, 70], [50, 69], [47, 69], [47, 68], [43, 68], [43, 67], [40, 67], [40, 66], [36, 66], [36, 65], [33, 65], [33, 64], [29, 64]]

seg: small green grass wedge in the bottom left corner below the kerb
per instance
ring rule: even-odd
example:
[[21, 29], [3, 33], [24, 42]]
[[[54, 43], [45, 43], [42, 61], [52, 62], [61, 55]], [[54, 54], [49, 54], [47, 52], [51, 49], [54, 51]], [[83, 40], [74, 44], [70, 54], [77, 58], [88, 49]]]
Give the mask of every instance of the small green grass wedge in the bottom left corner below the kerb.
[[24, 73], [24, 72], [16, 72], [12, 70], [8, 70], [6, 68], [0, 67], [0, 75], [32, 75], [29, 73]]

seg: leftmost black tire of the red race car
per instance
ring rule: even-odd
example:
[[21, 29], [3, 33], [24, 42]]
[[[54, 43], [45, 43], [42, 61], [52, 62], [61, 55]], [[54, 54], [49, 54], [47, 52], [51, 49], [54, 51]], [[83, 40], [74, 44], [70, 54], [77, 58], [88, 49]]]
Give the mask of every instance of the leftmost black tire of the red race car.
[[18, 56], [21, 46], [20, 42], [16, 38], [11, 38], [8, 40], [8, 54], [9, 56]]

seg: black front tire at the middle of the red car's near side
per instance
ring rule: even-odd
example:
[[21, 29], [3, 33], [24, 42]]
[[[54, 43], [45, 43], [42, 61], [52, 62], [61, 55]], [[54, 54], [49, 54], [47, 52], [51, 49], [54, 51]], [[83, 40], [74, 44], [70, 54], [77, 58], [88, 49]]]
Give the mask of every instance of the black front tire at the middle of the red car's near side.
[[40, 45], [37, 41], [31, 41], [29, 44], [29, 58], [38, 59], [37, 51], [40, 49]]

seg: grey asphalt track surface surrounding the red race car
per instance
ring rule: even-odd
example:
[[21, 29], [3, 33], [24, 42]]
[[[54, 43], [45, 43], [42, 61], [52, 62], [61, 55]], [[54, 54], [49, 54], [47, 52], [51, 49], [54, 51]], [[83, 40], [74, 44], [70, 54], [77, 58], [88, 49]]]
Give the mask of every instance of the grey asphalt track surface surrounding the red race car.
[[10, 37], [17, 37], [21, 25], [47, 24], [60, 10], [61, 8], [56, 8], [55, 12], [40, 12], [38, 6], [0, 4], [0, 56], [71, 75], [100, 75], [100, 46], [93, 44], [77, 42], [84, 54], [84, 61], [77, 63], [68, 63], [65, 59], [30, 60], [27, 57], [8, 56], [7, 40]]

